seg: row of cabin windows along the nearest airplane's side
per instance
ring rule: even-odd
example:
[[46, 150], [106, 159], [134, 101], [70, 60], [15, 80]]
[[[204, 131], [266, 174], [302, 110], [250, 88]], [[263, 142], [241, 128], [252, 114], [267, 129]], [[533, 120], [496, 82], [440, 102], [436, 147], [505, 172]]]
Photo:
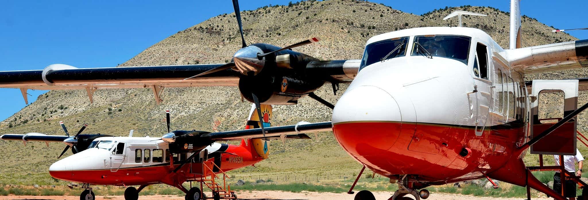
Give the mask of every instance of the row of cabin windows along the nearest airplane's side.
[[[495, 111], [503, 114], [505, 117], [520, 119], [524, 111], [524, 93], [519, 82], [513, 82], [512, 77], [506, 76], [500, 69], [496, 70], [495, 98], [498, 101], [498, 107]], [[507, 118], [505, 118], [507, 120]]]

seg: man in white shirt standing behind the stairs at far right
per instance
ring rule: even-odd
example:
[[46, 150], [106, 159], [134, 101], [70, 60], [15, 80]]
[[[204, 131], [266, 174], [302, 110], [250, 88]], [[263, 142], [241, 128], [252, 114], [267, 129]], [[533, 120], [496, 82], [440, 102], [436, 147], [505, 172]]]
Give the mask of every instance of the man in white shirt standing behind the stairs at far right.
[[[559, 155], [553, 155], [555, 158], [555, 164], [559, 166]], [[563, 167], [566, 171], [576, 173], [576, 176], [580, 177], [582, 175], [582, 161], [584, 157], [580, 154], [580, 151], [576, 148], [576, 155], [564, 155], [563, 156]], [[579, 170], [576, 171], [576, 162], [578, 163]], [[566, 180], [566, 191], [564, 191], [564, 196], [566, 198], [570, 198], [570, 200], [576, 199], [576, 182], [572, 180]], [[560, 193], [562, 192], [562, 181], [560, 179], [560, 173], [556, 172], [553, 175], [553, 190]]]

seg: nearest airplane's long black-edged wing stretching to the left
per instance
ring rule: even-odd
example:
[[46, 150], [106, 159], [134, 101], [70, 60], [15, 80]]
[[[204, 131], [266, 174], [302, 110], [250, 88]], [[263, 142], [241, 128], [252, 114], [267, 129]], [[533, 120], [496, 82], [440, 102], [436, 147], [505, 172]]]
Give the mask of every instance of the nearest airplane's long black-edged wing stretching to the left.
[[[305, 76], [312, 77], [310, 79], [342, 83], [353, 80], [359, 64], [360, 60], [312, 60], [300, 67], [307, 74]], [[228, 63], [77, 68], [55, 64], [43, 70], [0, 72], [0, 88], [20, 89], [27, 104], [28, 89], [85, 89], [92, 102], [93, 92], [97, 89], [149, 88], [153, 90], [155, 100], [159, 103], [159, 94], [165, 87], [238, 86], [240, 77], [244, 75], [235, 70], [234, 66], [234, 63]], [[196, 74], [199, 76], [192, 77]], [[281, 77], [276, 80], [282, 82]]]

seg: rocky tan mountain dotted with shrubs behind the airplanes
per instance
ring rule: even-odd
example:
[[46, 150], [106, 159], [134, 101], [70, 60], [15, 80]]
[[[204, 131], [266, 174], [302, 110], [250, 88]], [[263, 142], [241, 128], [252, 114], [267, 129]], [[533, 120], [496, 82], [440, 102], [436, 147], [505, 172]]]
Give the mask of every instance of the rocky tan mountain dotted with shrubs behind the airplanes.
[[[455, 26], [455, 19], [448, 22], [442, 18], [456, 9], [488, 15], [465, 16], [464, 24], [485, 30], [500, 45], [507, 47], [509, 15], [490, 7], [443, 8], [419, 16], [373, 2], [327, 0], [264, 6], [253, 11], [243, 11], [241, 16], [248, 43], [286, 46], [320, 36], [320, 42], [294, 50], [319, 59], [334, 60], [359, 59], [366, 40], [380, 33], [423, 26]], [[523, 46], [577, 40], [566, 33], [552, 33], [549, 26], [529, 17], [523, 18], [522, 28]], [[226, 63], [239, 48], [240, 36], [234, 13], [223, 13], [179, 30], [120, 66]], [[574, 74], [580, 76], [582, 73]], [[192, 75], [186, 74], [186, 77]], [[561, 73], [545, 76], [552, 79], [563, 77]], [[344, 89], [345, 86], [342, 91]], [[333, 95], [330, 86], [316, 93], [333, 103], [340, 97], [340, 94]], [[172, 129], [236, 130], [243, 127], [251, 105], [240, 101], [236, 87], [167, 88], [163, 91], [164, 102], [159, 105], [155, 103], [149, 89], [98, 90], [93, 99], [94, 103], [90, 104], [85, 91], [81, 90], [50, 91], [2, 121], [0, 133], [63, 134], [58, 123], [64, 121], [70, 130], [88, 123], [85, 133], [127, 135], [133, 129], [135, 136], [158, 137], [166, 131], [163, 120], [165, 109], [172, 110]], [[586, 100], [584, 98], [581, 101]], [[275, 106], [273, 113], [272, 125], [279, 126], [301, 120], [328, 121], [332, 111], [306, 98], [295, 106]], [[312, 173], [320, 171], [323, 166], [337, 166], [333, 167], [337, 170], [333, 171], [336, 174], [358, 168], [358, 164], [336, 145], [330, 133], [320, 134], [320, 140], [289, 141], [286, 144], [274, 143], [272, 146], [273, 156], [258, 165], [258, 168], [264, 170], [253, 171], [258, 174], [278, 171]], [[42, 143], [33, 142], [25, 146], [15, 141], [0, 141], [0, 147], [11, 154], [9, 157], [0, 157], [0, 162], [4, 163], [4, 167], [0, 168], [0, 177], [18, 181], [23, 174], [27, 174], [26, 177], [48, 179], [48, 166], [56, 161], [65, 144], [54, 143], [46, 147]], [[307, 152], [316, 154], [308, 156]], [[316, 162], [296, 163], [300, 158], [315, 159]], [[293, 170], [294, 166], [296, 170]], [[14, 174], [15, 168], [24, 170]]]

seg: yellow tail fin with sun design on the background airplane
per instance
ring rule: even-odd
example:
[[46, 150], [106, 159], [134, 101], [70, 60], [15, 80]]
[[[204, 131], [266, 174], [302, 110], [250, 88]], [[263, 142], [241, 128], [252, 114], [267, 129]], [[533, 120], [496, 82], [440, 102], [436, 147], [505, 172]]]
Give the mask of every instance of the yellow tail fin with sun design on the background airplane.
[[[250, 128], [259, 128], [260, 126], [269, 127], [270, 121], [272, 119], [272, 105], [264, 105], [261, 106], [262, 116], [263, 119], [259, 120], [257, 110], [255, 109], [255, 104], [251, 106], [251, 111], [249, 111], [249, 119], [247, 120], [247, 124], [245, 129]], [[268, 158], [269, 155], [269, 144], [268, 140], [263, 140], [262, 138], [254, 138], [249, 139], [249, 144], [253, 145], [255, 151], [258, 153], [260, 157], [263, 159]]]

